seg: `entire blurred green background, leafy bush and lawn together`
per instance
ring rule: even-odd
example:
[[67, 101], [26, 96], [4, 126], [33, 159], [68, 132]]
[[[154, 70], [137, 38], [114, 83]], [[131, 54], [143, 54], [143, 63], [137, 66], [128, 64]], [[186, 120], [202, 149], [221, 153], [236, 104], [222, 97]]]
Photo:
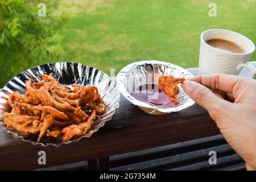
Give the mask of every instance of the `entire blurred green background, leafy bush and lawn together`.
[[[46, 17], [38, 16], [40, 2]], [[199, 0], [0, 0], [0, 88], [27, 68], [60, 60], [106, 73], [138, 60], [197, 67], [200, 34], [211, 28], [256, 43], [255, 2], [214, 3], [217, 17], [208, 15], [209, 1]]]

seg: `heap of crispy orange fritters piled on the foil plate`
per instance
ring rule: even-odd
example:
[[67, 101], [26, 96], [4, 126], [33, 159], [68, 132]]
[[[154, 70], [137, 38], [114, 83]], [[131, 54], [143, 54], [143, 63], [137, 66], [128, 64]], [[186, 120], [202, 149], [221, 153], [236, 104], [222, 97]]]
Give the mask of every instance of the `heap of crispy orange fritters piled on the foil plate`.
[[39, 134], [37, 143], [47, 137], [61, 137], [66, 142], [86, 134], [97, 115], [104, 114], [104, 101], [96, 86], [61, 85], [53, 73], [42, 81], [26, 82], [26, 93], [10, 94], [11, 112], [5, 113], [7, 127], [24, 133]]

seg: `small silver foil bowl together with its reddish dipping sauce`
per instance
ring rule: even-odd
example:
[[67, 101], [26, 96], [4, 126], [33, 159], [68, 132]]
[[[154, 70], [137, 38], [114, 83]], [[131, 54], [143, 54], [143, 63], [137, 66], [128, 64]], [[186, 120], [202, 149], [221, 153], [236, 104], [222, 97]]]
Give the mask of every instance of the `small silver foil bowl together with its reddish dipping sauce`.
[[164, 115], [192, 106], [195, 102], [185, 94], [179, 84], [176, 96], [179, 105], [174, 105], [158, 87], [158, 75], [193, 77], [192, 73], [175, 64], [163, 61], [138, 61], [124, 67], [117, 75], [117, 86], [123, 96], [145, 113]]

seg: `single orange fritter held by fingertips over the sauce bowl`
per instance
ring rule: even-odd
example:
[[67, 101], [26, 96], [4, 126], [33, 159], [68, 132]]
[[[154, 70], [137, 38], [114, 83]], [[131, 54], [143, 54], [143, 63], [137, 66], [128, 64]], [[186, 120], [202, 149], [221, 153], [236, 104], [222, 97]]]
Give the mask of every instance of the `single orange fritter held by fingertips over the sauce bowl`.
[[177, 87], [177, 84], [183, 84], [185, 81], [185, 78], [174, 78], [173, 76], [158, 76], [158, 84], [159, 89], [166, 94], [166, 96], [169, 98], [169, 100], [174, 103], [175, 105], [180, 104], [179, 101], [176, 100], [176, 95], [180, 92], [179, 88]]

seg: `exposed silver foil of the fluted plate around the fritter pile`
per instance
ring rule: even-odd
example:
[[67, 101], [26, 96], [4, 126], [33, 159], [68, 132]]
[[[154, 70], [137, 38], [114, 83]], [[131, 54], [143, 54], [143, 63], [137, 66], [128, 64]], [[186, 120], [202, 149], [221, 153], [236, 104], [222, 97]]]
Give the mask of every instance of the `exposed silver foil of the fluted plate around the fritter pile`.
[[22, 133], [15, 130], [12, 127], [7, 128], [5, 122], [3, 122], [5, 112], [10, 112], [11, 108], [7, 103], [9, 94], [12, 92], [25, 93], [25, 83], [29, 78], [33, 78], [36, 81], [41, 81], [41, 75], [53, 73], [54, 77], [61, 84], [71, 86], [71, 84], [84, 84], [84, 85], [94, 85], [98, 87], [98, 90], [103, 98], [106, 106], [106, 112], [100, 116], [100, 119], [96, 119], [90, 128], [89, 132], [82, 137], [73, 137], [67, 142], [63, 142], [61, 138], [53, 137], [43, 137], [39, 144], [42, 146], [47, 146], [51, 144], [53, 146], [60, 146], [61, 144], [77, 142], [81, 138], [90, 137], [93, 133], [98, 131], [100, 127], [104, 126], [107, 121], [112, 119], [115, 109], [119, 107], [120, 94], [115, 84], [106, 73], [99, 71], [96, 68], [88, 67], [80, 63], [49, 63], [44, 65], [39, 65], [37, 67], [28, 69], [19, 75], [11, 79], [0, 92], [0, 125], [8, 133], [13, 134], [14, 138], [22, 138], [24, 141], [31, 142], [32, 144], [37, 144], [36, 139], [38, 135]]

